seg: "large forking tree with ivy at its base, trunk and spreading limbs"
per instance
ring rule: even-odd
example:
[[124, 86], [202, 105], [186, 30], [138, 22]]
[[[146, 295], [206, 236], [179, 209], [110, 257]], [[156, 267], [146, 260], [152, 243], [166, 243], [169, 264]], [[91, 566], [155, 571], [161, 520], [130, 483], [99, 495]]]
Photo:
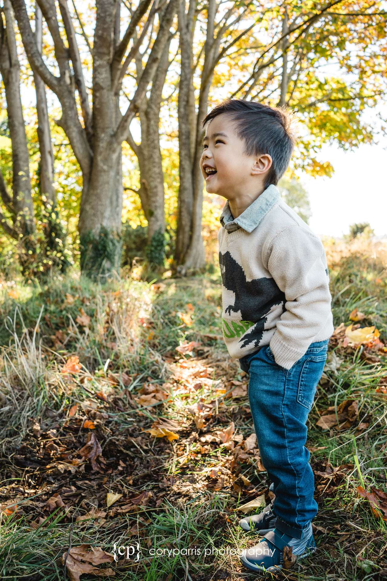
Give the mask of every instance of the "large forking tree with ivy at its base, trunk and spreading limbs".
[[[96, 0], [96, 26], [92, 49], [93, 107], [91, 117], [79, 49], [67, 9], [67, 0], [59, 0], [59, 8], [68, 46], [63, 42], [63, 31], [57, 20], [55, 3], [48, 0], [37, 1], [53, 40], [59, 77], [50, 72], [37, 51], [26, 3], [24, 0], [12, 0], [12, 3], [31, 68], [57, 95], [62, 105], [62, 118], [56, 120], [56, 123], [66, 132], [82, 170], [84, 187], [79, 212], [82, 271], [91, 275], [92, 278], [98, 275], [104, 277], [120, 268], [122, 141], [126, 139], [129, 125], [146, 98], [147, 88], [151, 81], [153, 82], [157, 68], [160, 66], [165, 43], [171, 35], [170, 27], [182, 0], [169, 0], [163, 3], [165, 10], [162, 10], [162, 17], [160, 17], [161, 9], [158, 2], [151, 2], [151, 0], [142, 0], [135, 10], [129, 8], [131, 17], [121, 40], [120, 15], [117, 14], [120, 1]], [[129, 64], [139, 53], [140, 40], [143, 40], [147, 21], [143, 23], [143, 32], [140, 37], [134, 40], [133, 37], [135, 37], [136, 27], [140, 25], [150, 6], [152, 17], [159, 12], [158, 34], [154, 39], [142, 76], [138, 80], [135, 95], [125, 114], [118, 116], [117, 99], [122, 88], [122, 79]], [[132, 40], [133, 45], [125, 57], [126, 49]], [[78, 91], [81, 103], [83, 124], [78, 115], [75, 90]]]

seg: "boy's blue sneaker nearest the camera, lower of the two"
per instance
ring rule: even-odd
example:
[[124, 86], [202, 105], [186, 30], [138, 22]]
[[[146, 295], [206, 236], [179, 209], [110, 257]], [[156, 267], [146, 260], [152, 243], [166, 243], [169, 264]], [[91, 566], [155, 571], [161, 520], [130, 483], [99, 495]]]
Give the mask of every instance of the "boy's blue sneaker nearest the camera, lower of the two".
[[283, 568], [284, 547], [292, 547], [296, 560], [308, 557], [316, 551], [312, 524], [306, 530], [303, 539], [295, 539], [279, 529], [274, 528], [254, 547], [245, 549], [239, 556], [243, 565], [250, 571], [274, 572]]

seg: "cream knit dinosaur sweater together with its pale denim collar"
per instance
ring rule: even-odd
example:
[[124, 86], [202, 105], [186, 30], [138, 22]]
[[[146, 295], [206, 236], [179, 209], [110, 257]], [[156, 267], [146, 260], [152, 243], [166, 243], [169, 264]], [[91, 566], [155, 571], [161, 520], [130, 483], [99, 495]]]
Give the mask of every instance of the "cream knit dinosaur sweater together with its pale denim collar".
[[232, 358], [270, 345], [290, 369], [333, 331], [325, 250], [270, 185], [237, 218], [227, 200], [218, 232], [223, 338]]

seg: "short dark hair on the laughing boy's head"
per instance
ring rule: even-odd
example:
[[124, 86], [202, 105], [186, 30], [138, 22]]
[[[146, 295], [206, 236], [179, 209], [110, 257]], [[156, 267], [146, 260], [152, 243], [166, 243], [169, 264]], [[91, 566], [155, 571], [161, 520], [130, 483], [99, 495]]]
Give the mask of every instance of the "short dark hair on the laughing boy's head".
[[245, 155], [268, 153], [272, 157], [264, 185], [265, 188], [277, 185], [289, 165], [295, 144], [292, 112], [285, 107], [270, 107], [254, 101], [224, 99], [207, 113], [202, 127], [220, 113], [229, 113], [236, 122], [236, 134], [245, 142]]

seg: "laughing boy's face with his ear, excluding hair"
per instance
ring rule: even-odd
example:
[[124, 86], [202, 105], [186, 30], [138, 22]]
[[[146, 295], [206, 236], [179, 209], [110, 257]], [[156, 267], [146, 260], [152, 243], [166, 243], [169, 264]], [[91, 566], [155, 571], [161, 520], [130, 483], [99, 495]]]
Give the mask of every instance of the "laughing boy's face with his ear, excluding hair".
[[[214, 135], [216, 133], [223, 135]], [[266, 162], [259, 162], [260, 156], [245, 155], [244, 141], [237, 136], [234, 122], [227, 113], [216, 116], [208, 123], [203, 144], [200, 168], [208, 193], [234, 200], [246, 196], [251, 198], [254, 192], [258, 192], [265, 179], [266, 170], [271, 166], [271, 157], [263, 156], [270, 160], [267, 167], [267, 159]], [[208, 175], [205, 171], [206, 165], [214, 167], [216, 174]]]

